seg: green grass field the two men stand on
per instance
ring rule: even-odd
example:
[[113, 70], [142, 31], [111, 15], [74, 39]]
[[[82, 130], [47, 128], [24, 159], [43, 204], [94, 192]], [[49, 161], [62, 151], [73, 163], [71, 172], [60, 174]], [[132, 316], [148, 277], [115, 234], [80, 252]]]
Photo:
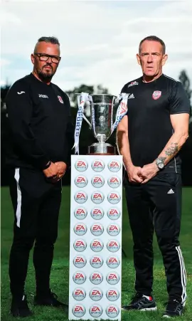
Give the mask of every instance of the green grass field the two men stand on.
[[[186, 263], [188, 278], [188, 301], [186, 310], [181, 320], [192, 320], [192, 259], [191, 259], [191, 239], [192, 239], [192, 188], [183, 188], [183, 216], [181, 224], [181, 248], [183, 258]], [[11, 295], [9, 293], [9, 250], [12, 241], [13, 211], [9, 198], [9, 189], [1, 188], [1, 320], [13, 321], [9, 315]], [[51, 273], [51, 289], [57, 293], [58, 298], [63, 302], [68, 302], [68, 274], [69, 274], [69, 226], [70, 226], [70, 188], [63, 187], [63, 202], [60, 209], [58, 241], [55, 245], [55, 257]], [[132, 258], [132, 234], [129, 228], [125, 201], [123, 201], [123, 226], [122, 226], [122, 246], [127, 257], [122, 261], [122, 304], [129, 302], [134, 293], [134, 268]], [[161, 260], [161, 253], [154, 238], [154, 297], [158, 311], [156, 312], [122, 312], [122, 321], [152, 321], [162, 320], [161, 313], [164, 310], [164, 302], [167, 300], [166, 279], [164, 267]], [[25, 320], [36, 321], [65, 321], [68, 320], [68, 313], [50, 307], [33, 308], [33, 295], [35, 292], [35, 277], [33, 263], [30, 259], [28, 266], [28, 278], [26, 280], [26, 294], [28, 301], [35, 315]]]

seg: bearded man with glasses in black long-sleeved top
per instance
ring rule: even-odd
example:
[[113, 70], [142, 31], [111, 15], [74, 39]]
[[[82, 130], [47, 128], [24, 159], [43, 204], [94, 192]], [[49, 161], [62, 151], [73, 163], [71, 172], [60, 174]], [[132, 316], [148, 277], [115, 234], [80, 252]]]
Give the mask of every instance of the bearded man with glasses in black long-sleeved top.
[[12, 85], [6, 97], [9, 120], [7, 164], [14, 207], [9, 261], [11, 314], [27, 317], [24, 285], [34, 245], [35, 305], [64, 306], [50, 290], [53, 248], [58, 236], [61, 179], [72, 147], [68, 96], [51, 83], [60, 63], [60, 43], [41, 37], [31, 54], [33, 72]]

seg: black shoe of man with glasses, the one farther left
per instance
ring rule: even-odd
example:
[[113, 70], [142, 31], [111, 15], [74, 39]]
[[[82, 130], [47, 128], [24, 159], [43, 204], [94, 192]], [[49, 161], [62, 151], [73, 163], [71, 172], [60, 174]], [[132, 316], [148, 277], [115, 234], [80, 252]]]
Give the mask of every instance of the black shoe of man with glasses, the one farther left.
[[23, 295], [21, 299], [12, 298], [11, 315], [13, 315], [13, 317], [30, 317], [30, 315], [33, 315], [28, 307], [26, 295]]

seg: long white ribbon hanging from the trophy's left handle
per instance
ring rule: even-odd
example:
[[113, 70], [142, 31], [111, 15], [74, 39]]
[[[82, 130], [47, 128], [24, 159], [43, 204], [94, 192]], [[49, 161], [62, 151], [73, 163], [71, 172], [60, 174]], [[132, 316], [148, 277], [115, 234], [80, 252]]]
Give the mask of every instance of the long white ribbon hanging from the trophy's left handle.
[[88, 122], [88, 124], [91, 127], [90, 122], [87, 120], [85, 115], [83, 114], [85, 102], [90, 101], [90, 96], [88, 93], [81, 93], [78, 95], [78, 113], [76, 117], [76, 124], [75, 124], [75, 144], [73, 145], [73, 148], [75, 148], [75, 154], [79, 154], [79, 140], [80, 140], [80, 130], [82, 126], [82, 118]]

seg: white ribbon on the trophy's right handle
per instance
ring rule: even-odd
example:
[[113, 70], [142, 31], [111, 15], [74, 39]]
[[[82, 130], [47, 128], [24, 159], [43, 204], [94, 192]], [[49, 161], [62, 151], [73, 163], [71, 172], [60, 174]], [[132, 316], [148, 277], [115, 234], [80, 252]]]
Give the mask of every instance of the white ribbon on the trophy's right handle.
[[118, 104], [117, 108], [117, 114], [114, 121], [114, 124], [111, 127], [111, 134], [114, 132], [115, 128], [119, 124], [119, 122], [122, 120], [122, 117], [127, 114], [127, 100], [128, 100], [129, 94], [121, 93], [119, 94], [119, 97], [115, 100], [115, 104]]

